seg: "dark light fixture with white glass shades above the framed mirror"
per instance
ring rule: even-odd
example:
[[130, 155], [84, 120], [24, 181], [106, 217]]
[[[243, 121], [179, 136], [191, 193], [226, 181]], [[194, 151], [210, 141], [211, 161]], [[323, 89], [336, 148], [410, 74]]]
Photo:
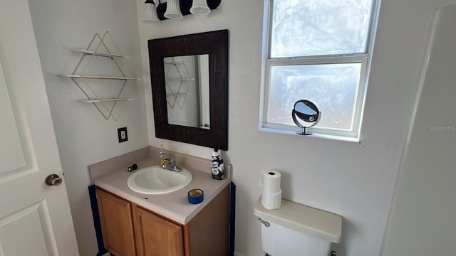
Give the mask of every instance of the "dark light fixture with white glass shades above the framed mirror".
[[207, 15], [217, 9], [222, 0], [146, 0], [142, 21], [162, 21], [167, 18], [180, 19], [188, 14]]

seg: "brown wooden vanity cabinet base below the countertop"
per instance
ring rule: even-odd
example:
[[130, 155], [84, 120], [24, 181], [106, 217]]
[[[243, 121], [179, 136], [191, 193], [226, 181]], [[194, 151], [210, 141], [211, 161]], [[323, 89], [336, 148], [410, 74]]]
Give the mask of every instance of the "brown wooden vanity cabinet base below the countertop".
[[96, 187], [103, 242], [116, 256], [224, 256], [229, 186], [182, 225]]

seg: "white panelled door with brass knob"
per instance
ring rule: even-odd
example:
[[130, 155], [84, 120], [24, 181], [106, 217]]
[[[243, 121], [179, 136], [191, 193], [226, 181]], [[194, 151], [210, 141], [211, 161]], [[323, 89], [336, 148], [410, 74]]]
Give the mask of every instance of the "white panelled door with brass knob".
[[79, 255], [27, 0], [0, 0], [0, 256]]

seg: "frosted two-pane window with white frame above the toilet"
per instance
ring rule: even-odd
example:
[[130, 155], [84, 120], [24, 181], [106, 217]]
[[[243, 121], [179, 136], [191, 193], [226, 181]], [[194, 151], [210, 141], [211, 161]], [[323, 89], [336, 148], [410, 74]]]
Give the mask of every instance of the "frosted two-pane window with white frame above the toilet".
[[296, 131], [294, 102], [321, 111], [311, 130], [358, 140], [375, 0], [269, 0], [262, 129]]

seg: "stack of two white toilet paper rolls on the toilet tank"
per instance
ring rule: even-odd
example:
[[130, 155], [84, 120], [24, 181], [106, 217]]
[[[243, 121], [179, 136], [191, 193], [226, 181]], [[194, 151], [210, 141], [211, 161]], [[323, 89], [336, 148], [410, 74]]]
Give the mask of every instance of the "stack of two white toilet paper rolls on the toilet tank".
[[279, 171], [265, 171], [263, 173], [261, 203], [266, 209], [274, 210], [281, 206], [280, 176]]

